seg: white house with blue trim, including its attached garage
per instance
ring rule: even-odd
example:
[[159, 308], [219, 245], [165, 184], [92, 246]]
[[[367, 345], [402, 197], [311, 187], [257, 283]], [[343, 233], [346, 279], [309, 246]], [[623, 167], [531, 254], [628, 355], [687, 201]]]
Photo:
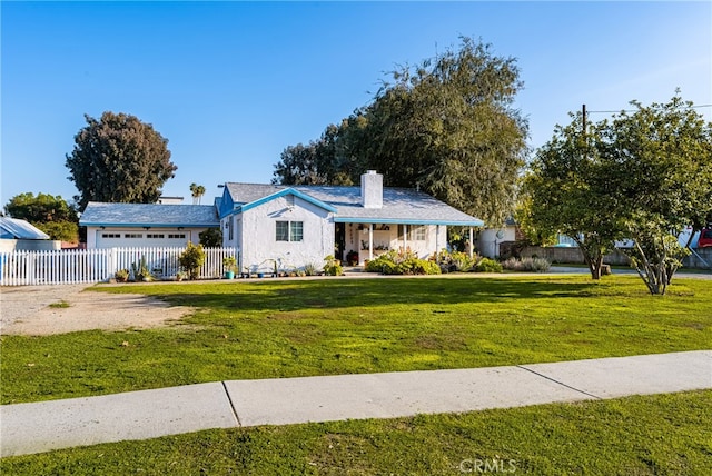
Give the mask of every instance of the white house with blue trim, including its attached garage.
[[[360, 186], [284, 186], [226, 182], [215, 205], [90, 202], [79, 221], [87, 247], [184, 246], [220, 227], [240, 270], [322, 267], [332, 255], [360, 265], [390, 249], [427, 258], [447, 246], [447, 227], [484, 224], [427, 194], [383, 187], [368, 171]], [[472, 249], [471, 249], [472, 252]]]

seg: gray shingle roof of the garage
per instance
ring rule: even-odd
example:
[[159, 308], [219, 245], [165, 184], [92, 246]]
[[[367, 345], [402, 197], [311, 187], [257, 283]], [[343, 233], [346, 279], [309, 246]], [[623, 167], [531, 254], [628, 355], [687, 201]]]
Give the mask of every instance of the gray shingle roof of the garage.
[[82, 226], [216, 227], [220, 221], [212, 205], [102, 204], [90, 201], [81, 215]]

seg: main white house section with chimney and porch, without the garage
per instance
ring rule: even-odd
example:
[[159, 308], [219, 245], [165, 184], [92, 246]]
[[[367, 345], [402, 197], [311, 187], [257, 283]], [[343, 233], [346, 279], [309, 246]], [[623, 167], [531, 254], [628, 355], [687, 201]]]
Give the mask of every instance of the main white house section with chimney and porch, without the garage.
[[[225, 185], [217, 200], [226, 247], [239, 250], [240, 269], [320, 266], [333, 255], [358, 262], [390, 249], [427, 258], [447, 246], [447, 227], [482, 220], [429, 195], [384, 188], [383, 176], [362, 175], [360, 187]], [[472, 240], [471, 240], [472, 242]]]

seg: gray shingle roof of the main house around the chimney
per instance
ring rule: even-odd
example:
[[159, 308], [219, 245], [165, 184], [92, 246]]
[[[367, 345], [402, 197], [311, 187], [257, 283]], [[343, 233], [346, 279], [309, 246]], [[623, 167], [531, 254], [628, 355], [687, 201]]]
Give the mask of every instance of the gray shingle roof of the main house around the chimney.
[[285, 188], [294, 188], [336, 208], [336, 221], [484, 225], [481, 219], [414, 189], [384, 187], [383, 207], [364, 208], [360, 204], [360, 187], [236, 182], [228, 182], [226, 186], [236, 204], [249, 204]]

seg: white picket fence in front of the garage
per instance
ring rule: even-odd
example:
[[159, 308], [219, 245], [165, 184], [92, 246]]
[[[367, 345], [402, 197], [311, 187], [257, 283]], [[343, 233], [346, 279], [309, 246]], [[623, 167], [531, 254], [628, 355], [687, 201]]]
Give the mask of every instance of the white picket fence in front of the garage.
[[[131, 270], [146, 259], [157, 278], [171, 278], [180, 270], [178, 257], [185, 248], [107, 248], [0, 252], [0, 286], [72, 285], [107, 281], [119, 269]], [[200, 279], [222, 276], [222, 258], [235, 248], [205, 248]]]

